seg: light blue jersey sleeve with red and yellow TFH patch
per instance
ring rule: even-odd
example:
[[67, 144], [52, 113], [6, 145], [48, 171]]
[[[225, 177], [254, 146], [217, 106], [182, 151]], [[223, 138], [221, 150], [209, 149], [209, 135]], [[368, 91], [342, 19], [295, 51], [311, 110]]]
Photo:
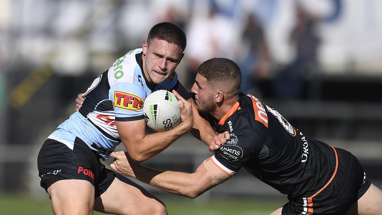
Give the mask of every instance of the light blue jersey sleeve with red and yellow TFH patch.
[[144, 119], [144, 90], [134, 83], [118, 83], [110, 88], [109, 98], [113, 102], [116, 121]]

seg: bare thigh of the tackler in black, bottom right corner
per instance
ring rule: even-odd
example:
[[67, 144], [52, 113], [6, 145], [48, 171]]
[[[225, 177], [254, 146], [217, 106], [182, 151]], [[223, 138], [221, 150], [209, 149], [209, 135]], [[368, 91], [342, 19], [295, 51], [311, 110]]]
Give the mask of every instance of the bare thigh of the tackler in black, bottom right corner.
[[382, 212], [382, 191], [371, 184], [365, 194], [355, 202], [346, 215], [379, 215]]

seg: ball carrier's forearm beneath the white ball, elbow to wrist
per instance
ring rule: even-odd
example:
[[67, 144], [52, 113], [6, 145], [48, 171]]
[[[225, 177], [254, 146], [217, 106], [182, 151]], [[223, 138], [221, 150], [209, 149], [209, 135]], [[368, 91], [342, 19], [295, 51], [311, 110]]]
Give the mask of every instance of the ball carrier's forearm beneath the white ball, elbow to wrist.
[[[157, 155], [169, 147], [175, 140], [189, 131], [189, 128], [180, 124], [175, 128], [153, 134], [145, 135], [138, 144], [130, 147], [129, 155], [137, 162], [141, 163]], [[127, 146], [126, 146], [127, 148]]]

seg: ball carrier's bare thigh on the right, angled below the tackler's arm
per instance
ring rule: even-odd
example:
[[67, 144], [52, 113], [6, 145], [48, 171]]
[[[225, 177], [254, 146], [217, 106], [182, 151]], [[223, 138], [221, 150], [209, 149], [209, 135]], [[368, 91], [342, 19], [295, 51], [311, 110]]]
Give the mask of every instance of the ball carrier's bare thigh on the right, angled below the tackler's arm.
[[106, 192], [95, 198], [94, 210], [118, 215], [167, 214], [162, 201], [120, 174]]

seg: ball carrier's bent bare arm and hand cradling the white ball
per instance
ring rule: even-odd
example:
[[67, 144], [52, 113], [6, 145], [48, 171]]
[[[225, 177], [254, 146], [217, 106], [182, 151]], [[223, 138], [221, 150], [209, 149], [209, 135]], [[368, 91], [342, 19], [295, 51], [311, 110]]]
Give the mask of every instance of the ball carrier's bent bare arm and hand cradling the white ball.
[[146, 134], [146, 122], [144, 119], [137, 121], [117, 121], [117, 130], [126, 150], [135, 162], [143, 162], [170, 146], [176, 139], [189, 132], [193, 126], [193, 113], [191, 104], [175, 95], [181, 111], [181, 123], [175, 128], [154, 134]]

